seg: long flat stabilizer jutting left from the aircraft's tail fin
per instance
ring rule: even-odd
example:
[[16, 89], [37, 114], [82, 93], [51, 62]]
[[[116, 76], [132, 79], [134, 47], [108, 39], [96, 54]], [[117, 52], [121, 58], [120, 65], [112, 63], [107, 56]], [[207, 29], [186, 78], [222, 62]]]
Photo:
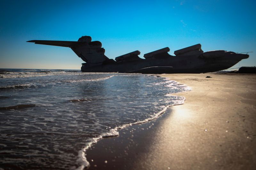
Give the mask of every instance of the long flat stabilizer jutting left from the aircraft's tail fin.
[[74, 46], [86, 43], [86, 42], [79, 42], [79, 41], [48, 41], [48, 40], [31, 40], [27, 42], [34, 42], [35, 44], [61, 46], [61, 47], [74, 47]]

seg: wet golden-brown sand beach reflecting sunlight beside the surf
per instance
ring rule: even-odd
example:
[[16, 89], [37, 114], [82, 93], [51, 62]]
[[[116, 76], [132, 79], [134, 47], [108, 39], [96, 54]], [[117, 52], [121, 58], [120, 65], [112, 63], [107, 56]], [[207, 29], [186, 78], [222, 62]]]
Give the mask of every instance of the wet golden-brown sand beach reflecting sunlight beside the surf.
[[161, 76], [191, 87], [173, 94], [185, 103], [100, 140], [86, 151], [89, 169], [256, 167], [256, 74]]

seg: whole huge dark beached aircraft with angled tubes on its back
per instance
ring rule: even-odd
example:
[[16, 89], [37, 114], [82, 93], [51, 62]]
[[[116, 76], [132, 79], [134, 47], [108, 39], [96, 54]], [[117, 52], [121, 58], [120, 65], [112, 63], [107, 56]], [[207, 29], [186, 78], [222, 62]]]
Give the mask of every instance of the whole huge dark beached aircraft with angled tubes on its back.
[[242, 59], [249, 57], [247, 54], [238, 54], [231, 51], [215, 50], [204, 52], [201, 44], [174, 51], [174, 56], [169, 55], [170, 48], [162, 48], [140, 58], [140, 51], [121, 55], [109, 59], [105, 55], [100, 41], [92, 41], [90, 36], [82, 36], [78, 41], [47, 41], [31, 40], [35, 44], [61, 46], [71, 48], [82, 63], [84, 72], [122, 72], [122, 73], [207, 73], [225, 70]]

